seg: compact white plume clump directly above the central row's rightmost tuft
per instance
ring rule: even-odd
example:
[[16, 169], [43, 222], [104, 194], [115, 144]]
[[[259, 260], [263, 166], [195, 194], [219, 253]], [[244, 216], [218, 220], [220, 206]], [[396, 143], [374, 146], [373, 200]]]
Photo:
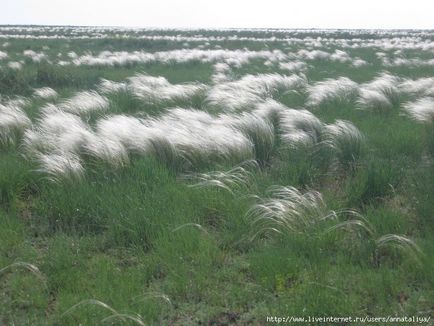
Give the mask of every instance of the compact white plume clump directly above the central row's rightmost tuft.
[[309, 93], [306, 105], [318, 107], [333, 100], [348, 101], [357, 95], [359, 85], [347, 77], [326, 79], [308, 86]]

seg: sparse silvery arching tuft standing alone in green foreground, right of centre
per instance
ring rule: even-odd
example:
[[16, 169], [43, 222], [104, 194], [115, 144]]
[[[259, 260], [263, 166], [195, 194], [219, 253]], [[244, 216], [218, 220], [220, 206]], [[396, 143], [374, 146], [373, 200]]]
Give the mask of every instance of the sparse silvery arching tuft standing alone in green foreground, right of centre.
[[317, 191], [302, 193], [294, 187], [275, 186], [268, 190], [268, 198], [260, 199], [247, 212], [256, 231], [263, 233], [312, 234], [318, 223], [336, 218], [328, 211]]

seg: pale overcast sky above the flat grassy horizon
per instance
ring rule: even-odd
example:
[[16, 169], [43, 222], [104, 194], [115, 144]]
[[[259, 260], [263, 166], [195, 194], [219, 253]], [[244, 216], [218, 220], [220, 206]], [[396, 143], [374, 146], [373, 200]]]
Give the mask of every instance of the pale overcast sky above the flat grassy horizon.
[[0, 0], [0, 24], [434, 28], [434, 0]]

